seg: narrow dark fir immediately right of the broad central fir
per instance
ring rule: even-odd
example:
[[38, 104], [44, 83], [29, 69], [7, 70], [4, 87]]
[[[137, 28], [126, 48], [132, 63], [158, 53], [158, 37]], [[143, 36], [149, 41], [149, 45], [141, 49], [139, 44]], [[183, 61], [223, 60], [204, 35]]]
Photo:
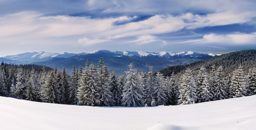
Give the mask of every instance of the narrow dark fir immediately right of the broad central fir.
[[153, 76], [152, 67], [149, 67], [148, 75], [145, 82], [145, 105], [151, 106], [154, 99], [153, 92], [155, 91], [155, 76]]

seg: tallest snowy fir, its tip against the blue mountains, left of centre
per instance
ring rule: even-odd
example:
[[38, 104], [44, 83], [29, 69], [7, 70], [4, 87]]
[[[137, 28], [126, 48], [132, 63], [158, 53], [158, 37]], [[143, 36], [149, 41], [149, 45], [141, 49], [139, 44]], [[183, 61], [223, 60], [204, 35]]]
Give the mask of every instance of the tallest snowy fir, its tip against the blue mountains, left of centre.
[[98, 63], [97, 69], [97, 84], [98, 84], [98, 94], [99, 101], [98, 105], [112, 106], [115, 104], [115, 100], [112, 92], [110, 91], [111, 87], [109, 85], [108, 77], [108, 66], [103, 62], [101, 57]]

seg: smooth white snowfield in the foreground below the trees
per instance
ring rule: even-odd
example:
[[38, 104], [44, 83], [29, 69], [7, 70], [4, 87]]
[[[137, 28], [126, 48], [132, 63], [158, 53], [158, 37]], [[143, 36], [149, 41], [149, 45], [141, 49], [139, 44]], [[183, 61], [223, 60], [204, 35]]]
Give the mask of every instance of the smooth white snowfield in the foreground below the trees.
[[157, 107], [90, 107], [0, 96], [2, 130], [252, 130], [256, 95]]

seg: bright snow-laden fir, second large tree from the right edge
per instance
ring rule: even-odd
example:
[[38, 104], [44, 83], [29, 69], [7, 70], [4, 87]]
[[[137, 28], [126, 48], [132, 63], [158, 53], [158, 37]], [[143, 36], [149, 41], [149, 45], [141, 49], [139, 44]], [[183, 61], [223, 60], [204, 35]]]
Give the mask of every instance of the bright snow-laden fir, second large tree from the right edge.
[[242, 65], [233, 71], [231, 78], [232, 97], [247, 96], [247, 80]]

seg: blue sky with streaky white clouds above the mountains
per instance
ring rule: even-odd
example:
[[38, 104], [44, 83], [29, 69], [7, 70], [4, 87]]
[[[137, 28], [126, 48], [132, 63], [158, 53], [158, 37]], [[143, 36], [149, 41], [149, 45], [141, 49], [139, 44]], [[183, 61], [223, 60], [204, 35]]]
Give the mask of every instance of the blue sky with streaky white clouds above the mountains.
[[0, 57], [256, 49], [254, 0], [0, 0]]

